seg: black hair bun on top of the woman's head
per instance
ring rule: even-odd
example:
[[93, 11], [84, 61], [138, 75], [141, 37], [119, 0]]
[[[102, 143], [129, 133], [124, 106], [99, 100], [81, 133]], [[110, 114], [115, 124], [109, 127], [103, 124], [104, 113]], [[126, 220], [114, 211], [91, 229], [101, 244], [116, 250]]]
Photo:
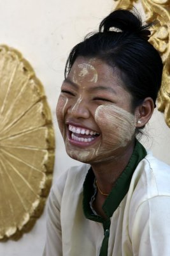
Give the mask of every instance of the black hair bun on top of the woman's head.
[[141, 16], [138, 11], [131, 10], [115, 10], [102, 20], [99, 31], [106, 33], [110, 31], [135, 33], [141, 38], [148, 40], [150, 36], [150, 28], [152, 24], [143, 26]]

